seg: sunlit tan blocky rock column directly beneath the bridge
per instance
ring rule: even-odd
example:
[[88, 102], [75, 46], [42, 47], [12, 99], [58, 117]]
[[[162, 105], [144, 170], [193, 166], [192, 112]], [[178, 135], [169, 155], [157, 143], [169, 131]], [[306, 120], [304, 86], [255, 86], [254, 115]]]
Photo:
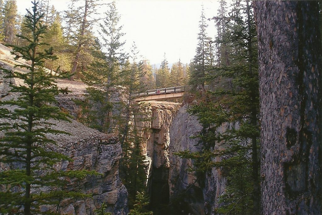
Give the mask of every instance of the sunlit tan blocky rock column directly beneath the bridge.
[[[141, 102], [141, 117], [139, 122], [143, 128], [142, 149], [146, 156], [147, 187], [152, 207], [169, 202], [169, 144], [170, 126], [179, 108], [178, 103], [165, 101]], [[141, 129], [140, 129], [141, 130]]]

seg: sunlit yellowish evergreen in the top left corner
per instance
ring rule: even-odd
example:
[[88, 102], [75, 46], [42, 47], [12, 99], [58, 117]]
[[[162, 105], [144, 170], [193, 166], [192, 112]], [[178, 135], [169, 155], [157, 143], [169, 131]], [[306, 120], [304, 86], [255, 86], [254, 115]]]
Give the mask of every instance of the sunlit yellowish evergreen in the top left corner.
[[3, 9], [3, 28], [5, 36], [4, 41], [8, 44], [13, 44], [15, 42], [17, 24], [16, 17], [16, 1], [6, 1]]

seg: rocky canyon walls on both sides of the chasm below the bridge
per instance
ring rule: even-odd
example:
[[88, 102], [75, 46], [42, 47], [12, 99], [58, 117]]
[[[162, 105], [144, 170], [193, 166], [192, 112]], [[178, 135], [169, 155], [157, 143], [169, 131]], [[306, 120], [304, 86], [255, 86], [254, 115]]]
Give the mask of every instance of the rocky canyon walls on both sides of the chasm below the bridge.
[[[1, 66], [6, 67], [4, 64]], [[9, 84], [19, 80], [8, 80], [0, 74], [1, 99], [11, 99]], [[56, 99], [58, 106], [76, 117], [79, 107], [73, 102], [85, 93], [81, 82], [57, 80], [59, 87], [68, 87], [71, 92]], [[145, 107], [137, 117], [143, 141], [141, 148], [147, 164], [147, 193], [155, 214], [215, 214], [218, 197], [224, 192], [225, 179], [213, 168], [203, 177], [187, 171], [193, 167], [191, 159], [181, 158], [176, 152], [190, 150], [199, 152], [198, 138], [191, 138], [201, 130], [196, 117], [191, 116], [188, 104], [149, 101], [141, 102]], [[61, 204], [62, 214], [94, 214], [103, 202], [112, 214], [127, 214], [127, 190], [118, 175], [121, 147], [117, 135], [106, 135], [83, 126], [75, 119], [71, 122], [54, 122], [55, 128], [71, 135], [52, 135], [57, 142], [52, 150], [68, 155], [73, 162], [57, 164], [61, 170], [96, 170], [101, 176], [91, 176], [81, 183], [71, 183], [68, 190], [92, 194], [85, 200], [68, 200]], [[224, 127], [223, 127], [224, 129]], [[1, 168], [17, 168], [4, 166]], [[44, 209], [45, 210], [45, 209]]]

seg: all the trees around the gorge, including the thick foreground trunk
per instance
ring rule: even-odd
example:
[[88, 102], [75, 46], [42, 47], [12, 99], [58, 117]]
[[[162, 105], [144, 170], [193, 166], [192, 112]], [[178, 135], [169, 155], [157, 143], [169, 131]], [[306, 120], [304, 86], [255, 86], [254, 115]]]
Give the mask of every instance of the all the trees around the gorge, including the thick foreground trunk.
[[[59, 208], [62, 198], [86, 197], [78, 192], [66, 194], [62, 186], [70, 177], [97, 173], [57, 171], [53, 164], [69, 158], [49, 153], [48, 145], [54, 142], [46, 137], [64, 133], [52, 129], [48, 119], [68, 120], [51, 105], [59, 92], [54, 79], [76, 77], [89, 86], [84, 99], [75, 101], [81, 106], [78, 120], [101, 132], [118, 134], [123, 151], [120, 176], [128, 189], [132, 214], [150, 214], [143, 207], [147, 204], [146, 173], [138, 135], [147, 128], [137, 115], [147, 107], [134, 102], [134, 92], [144, 92], [147, 82], [152, 84], [149, 88], [157, 88], [166, 87], [170, 80], [173, 85], [189, 83], [196, 101], [189, 111], [202, 125], [195, 137], [203, 150], [178, 154], [194, 159], [192, 171], [201, 184], [212, 168], [226, 178], [216, 213], [321, 214], [321, 29], [316, 24], [321, 5], [317, 2], [227, 5], [221, 0], [217, 15], [209, 18], [217, 28], [216, 36], [207, 35], [209, 21], [202, 11], [196, 54], [189, 67], [179, 60], [171, 73], [166, 57], [153, 72], [147, 61], [138, 60], [135, 44], [131, 53], [123, 50], [124, 33], [114, 2], [104, 5], [106, 13], [96, 19], [96, 8], [102, 5], [72, 1], [64, 12], [64, 31], [48, 1], [34, 2], [21, 25], [15, 4], [0, 1], [1, 39], [16, 44], [12, 53], [31, 64], [21, 65], [28, 73], [7, 71], [25, 85], [12, 86], [12, 92], [20, 93], [17, 100], [0, 103], [19, 107], [0, 109], [1, 118], [6, 119], [0, 124], [5, 132], [0, 139], [1, 162], [23, 165], [0, 172], [1, 213], [33, 214], [40, 205]], [[91, 32], [97, 21], [103, 41]], [[46, 72], [46, 67], [53, 72]], [[10, 121], [17, 119], [21, 123]], [[218, 132], [223, 125], [225, 132]], [[34, 187], [52, 189], [33, 193]], [[104, 205], [97, 210], [105, 212]]]

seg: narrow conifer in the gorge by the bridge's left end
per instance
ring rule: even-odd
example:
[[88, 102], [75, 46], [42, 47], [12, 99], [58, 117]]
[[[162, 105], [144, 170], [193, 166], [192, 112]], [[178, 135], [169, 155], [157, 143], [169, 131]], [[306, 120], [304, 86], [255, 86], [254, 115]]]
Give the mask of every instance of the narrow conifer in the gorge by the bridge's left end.
[[136, 200], [137, 192], [144, 192], [146, 188], [146, 165], [145, 157], [142, 153], [142, 137], [147, 128], [142, 126], [144, 121], [149, 121], [147, 117], [140, 117], [141, 109], [146, 109], [147, 105], [137, 103], [135, 99], [138, 93], [145, 92], [145, 85], [142, 77], [145, 76], [143, 62], [138, 61], [138, 51], [133, 44], [130, 58], [126, 68], [122, 71], [122, 86], [126, 88], [127, 99], [122, 104], [123, 114], [118, 118], [118, 134], [123, 150], [120, 161], [120, 176], [128, 190], [129, 206], [132, 207]]

